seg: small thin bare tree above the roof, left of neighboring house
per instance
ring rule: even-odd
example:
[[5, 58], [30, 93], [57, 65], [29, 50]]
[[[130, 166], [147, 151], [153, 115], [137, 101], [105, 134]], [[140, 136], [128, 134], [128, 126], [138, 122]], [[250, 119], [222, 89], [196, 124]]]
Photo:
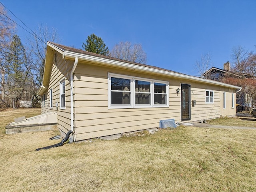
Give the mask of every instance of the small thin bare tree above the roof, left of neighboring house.
[[[204, 74], [209, 68], [212, 67], [212, 54], [207, 52], [201, 55], [201, 59], [197, 60], [194, 64], [194, 68], [200, 73]], [[207, 78], [207, 77], [206, 77]]]

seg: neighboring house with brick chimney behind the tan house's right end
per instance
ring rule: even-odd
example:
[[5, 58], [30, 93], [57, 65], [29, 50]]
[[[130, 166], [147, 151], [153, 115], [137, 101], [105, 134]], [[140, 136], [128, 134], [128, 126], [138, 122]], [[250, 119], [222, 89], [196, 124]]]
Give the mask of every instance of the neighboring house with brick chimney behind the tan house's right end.
[[[212, 67], [204, 74], [207, 79], [215, 80], [223, 82], [224, 78], [237, 78], [237, 79], [244, 79], [244, 78], [254, 78], [254, 76], [247, 74], [247, 73], [238, 73], [232, 72], [230, 70], [230, 62], [226, 62], [223, 64], [223, 69]], [[246, 87], [244, 87], [246, 90]], [[244, 106], [244, 107], [252, 107], [252, 97], [250, 94], [244, 92], [240, 92], [236, 95], [236, 103]]]

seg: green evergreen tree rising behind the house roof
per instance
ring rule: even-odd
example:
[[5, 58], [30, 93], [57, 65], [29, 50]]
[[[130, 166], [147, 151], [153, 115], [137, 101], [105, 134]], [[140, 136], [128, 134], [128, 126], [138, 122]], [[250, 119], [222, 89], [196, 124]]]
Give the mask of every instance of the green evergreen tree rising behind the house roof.
[[108, 46], [102, 40], [102, 38], [97, 37], [95, 34], [91, 34], [87, 37], [86, 43], [83, 42], [82, 47], [84, 50], [97, 53], [101, 55], [109, 55]]

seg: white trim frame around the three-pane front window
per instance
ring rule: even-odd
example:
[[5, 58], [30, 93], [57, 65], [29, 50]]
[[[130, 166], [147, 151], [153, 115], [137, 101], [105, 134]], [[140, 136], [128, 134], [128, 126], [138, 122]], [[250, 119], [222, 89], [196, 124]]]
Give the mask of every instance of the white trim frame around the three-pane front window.
[[[130, 105], [111, 105], [111, 77], [130, 79]], [[150, 104], [135, 104], [135, 81], [147, 81], [150, 82]], [[154, 83], [166, 84], [166, 104], [154, 104]], [[135, 76], [120, 75], [114, 73], [108, 73], [108, 108], [109, 109], [125, 109], [125, 108], [161, 108], [169, 107], [169, 82], [154, 80], [148, 78], [139, 78]]]

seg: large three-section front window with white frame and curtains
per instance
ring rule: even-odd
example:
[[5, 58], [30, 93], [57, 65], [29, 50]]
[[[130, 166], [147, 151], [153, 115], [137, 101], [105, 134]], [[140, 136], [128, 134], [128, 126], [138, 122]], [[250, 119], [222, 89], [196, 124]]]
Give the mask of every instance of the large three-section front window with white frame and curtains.
[[168, 88], [168, 82], [109, 73], [108, 107], [168, 107]]

